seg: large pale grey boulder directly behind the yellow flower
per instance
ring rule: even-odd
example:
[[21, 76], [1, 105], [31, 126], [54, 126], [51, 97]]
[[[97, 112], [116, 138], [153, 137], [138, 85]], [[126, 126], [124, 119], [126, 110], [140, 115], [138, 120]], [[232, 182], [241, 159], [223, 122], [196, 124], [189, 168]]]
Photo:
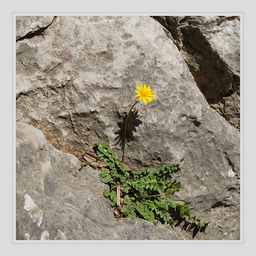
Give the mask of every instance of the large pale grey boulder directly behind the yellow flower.
[[[29, 26], [28, 21], [21, 24]], [[17, 121], [40, 129], [66, 153], [79, 156], [102, 141], [121, 159], [123, 120], [136, 101], [135, 86], [150, 85], [156, 100], [139, 102], [130, 117], [125, 163], [138, 170], [180, 163], [174, 174], [182, 183], [177, 198], [187, 203], [192, 215], [212, 221], [194, 239], [239, 239], [238, 129], [209, 106], [160, 25], [135, 16], [56, 17], [48, 25], [41, 35], [17, 42]], [[24, 196], [22, 192], [20, 201]], [[74, 205], [82, 213], [78, 210], [79, 221], [74, 224], [73, 219], [72, 225], [82, 230], [82, 216], [92, 218], [94, 213]], [[55, 202], [53, 207], [56, 212]], [[48, 221], [55, 222], [52, 217]], [[191, 232], [183, 233], [192, 239]], [[107, 239], [94, 236], [81, 233], [80, 238], [67, 239]], [[146, 239], [138, 237], [134, 239]]]

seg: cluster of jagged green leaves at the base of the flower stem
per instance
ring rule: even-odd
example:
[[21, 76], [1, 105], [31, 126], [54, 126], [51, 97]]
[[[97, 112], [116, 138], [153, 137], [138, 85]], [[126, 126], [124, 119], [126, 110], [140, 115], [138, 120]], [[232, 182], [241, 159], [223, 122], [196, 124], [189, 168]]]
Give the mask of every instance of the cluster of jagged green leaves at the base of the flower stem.
[[[124, 204], [121, 207], [121, 212], [128, 218], [133, 219], [136, 217], [134, 210], [150, 222], [155, 223], [155, 216], [157, 219], [167, 221], [168, 224], [173, 225], [174, 220], [168, 213], [169, 207], [179, 210], [182, 218], [188, 217], [193, 222], [197, 221], [198, 228], [204, 225], [208, 226], [210, 222], [204, 222], [196, 217], [190, 216], [190, 210], [185, 207], [185, 202], [174, 201], [170, 198], [175, 191], [181, 189], [181, 183], [169, 180], [169, 173], [177, 170], [179, 165], [164, 165], [151, 172], [149, 167], [144, 168], [142, 172], [137, 172], [135, 169], [127, 171], [120, 160], [116, 158], [110, 147], [104, 142], [95, 143], [95, 152], [108, 165], [107, 168], [102, 168], [99, 178], [101, 182], [116, 184], [119, 182], [123, 187]], [[147, 197], [158, 193], [164, 193], [169, 197]], [[104, 190], [103, 195], [110, 198], [111, 205], [117, 203], [117, 193], [112, 190]], [[155, 213], [155, 214], [154, 214]]]

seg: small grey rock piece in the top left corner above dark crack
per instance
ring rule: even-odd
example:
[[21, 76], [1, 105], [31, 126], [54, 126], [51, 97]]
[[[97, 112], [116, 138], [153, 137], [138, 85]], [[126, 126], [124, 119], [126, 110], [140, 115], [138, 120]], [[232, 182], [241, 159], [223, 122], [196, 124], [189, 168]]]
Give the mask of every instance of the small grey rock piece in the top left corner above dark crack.
[[54, 16], [16, 16], [16, 40], [43, 30], [53, 19]]

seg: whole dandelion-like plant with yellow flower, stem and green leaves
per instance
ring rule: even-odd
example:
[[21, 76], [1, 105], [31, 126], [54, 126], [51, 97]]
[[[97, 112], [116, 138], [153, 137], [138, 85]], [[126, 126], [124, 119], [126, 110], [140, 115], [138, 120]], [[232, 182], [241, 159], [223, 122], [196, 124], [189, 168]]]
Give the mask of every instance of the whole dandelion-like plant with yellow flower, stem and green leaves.
[[137, 172], [124, 165], [126, 131], [131, 110], [141, 100], [145, 105], [146, 101], [154, 101], [151, 97], [155, 97], [155, 94], [151, 91], [150, 86], [146, 87], [145, 84], [137, 86], [135, 92], [139, 98], [129, 110], [125, 123], [122, 162], [106, 143], [95, 144], [97, 156], [108, 165], [102, 168], [100, 180], [110, 185], [110, 191], [105, 190], [103, 194], [110, 198], [115, 213], [127, 219], [139, 217], [153, 223], [157, 220], [166, 221], [174, 227], [174, 215], [178, 212], [182, 219], [192, 219], [192, 223], [196, 222], [198, 229], [203, 226], [206, 228], [210, 222], [192, 217], [188, 207], [185, 207], [185, 202], [176, 201], [171, 197], [181, 188], [180, 182], [170, 179], [170, 174], [177, 170], [179, 165], [164, 165], [155, 172], [151, 172], [149, 167]]

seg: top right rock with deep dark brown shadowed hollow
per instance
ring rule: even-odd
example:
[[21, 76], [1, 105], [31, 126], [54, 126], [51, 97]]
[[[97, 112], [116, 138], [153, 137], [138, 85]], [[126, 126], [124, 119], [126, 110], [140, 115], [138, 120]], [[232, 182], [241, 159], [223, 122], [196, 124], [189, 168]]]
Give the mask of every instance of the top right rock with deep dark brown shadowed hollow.
[[210, 106], [240, 127], [240, 19], [238, 16], [154, 17], [177, 40]]

